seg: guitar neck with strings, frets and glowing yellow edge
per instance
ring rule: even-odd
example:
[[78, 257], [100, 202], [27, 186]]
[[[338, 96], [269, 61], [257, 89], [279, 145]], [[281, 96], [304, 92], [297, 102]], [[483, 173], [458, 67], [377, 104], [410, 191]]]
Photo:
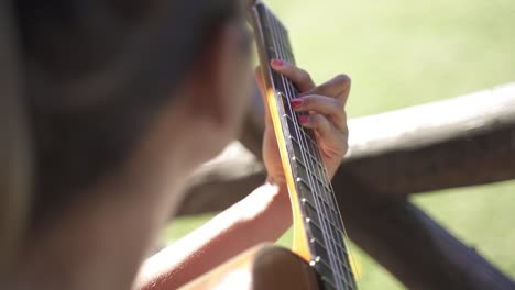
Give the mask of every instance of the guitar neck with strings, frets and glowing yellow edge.
[[[272, 59], [295, 64], [288, 33], [262, 2], [250, 9], [263, 80], [294, 212], [294, 252], [317, 270], [325, 289], [357, 289], [343, 223], [311, 130], [298, 123], [292, 81], [270, 67]], [[306, 253], [307, 252], [307, 253]]]

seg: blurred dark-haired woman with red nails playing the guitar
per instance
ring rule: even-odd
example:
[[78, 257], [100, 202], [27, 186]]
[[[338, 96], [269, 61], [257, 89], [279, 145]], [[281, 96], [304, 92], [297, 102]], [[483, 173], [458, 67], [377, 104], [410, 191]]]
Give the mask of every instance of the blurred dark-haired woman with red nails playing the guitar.
[[[235, 0], [13, 1], [32, 204], [2, 289], [130, 289], [188, 175], [241, 127], [251, 85], [244, 4]], [[350, 81], [303, 93], [330, 176], [347, 150]], [[259, 81], [260, 82], [260, 81]], [[269, 178], [248, 198], [149, 259], [142, 289], [175, 289], [292, 223], [270, 115]]]

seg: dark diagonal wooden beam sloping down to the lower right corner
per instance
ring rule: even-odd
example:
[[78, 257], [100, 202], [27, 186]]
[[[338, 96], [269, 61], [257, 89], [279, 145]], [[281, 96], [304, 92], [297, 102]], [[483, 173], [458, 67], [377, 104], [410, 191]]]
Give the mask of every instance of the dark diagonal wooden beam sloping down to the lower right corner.
[[377, 194], [351, 176], [335, 190], [349, 237], [407, 289], [515, 289], [475, 249], [409, 202]]

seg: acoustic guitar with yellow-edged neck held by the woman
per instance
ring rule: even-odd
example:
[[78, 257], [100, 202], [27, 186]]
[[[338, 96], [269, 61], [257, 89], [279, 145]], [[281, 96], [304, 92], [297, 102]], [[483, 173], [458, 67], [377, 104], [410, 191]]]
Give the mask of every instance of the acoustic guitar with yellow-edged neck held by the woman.
[[343, 223], [316, 138], [298, 124], [289, 103], [298, 91], [270, 67], [274, 58], [295, 64], [288, 33], [262, 1], [252, 1], [249, 20], [292, 200], [293, 253], [272, 245], [254, 247], [185, 289], [357, 289]]

